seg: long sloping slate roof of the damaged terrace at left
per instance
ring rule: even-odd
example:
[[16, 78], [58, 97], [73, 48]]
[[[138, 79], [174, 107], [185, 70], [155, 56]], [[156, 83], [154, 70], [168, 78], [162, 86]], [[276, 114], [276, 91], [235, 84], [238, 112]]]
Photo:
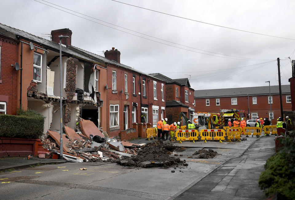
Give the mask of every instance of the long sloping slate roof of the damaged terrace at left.
[[[7, 26], [5, 24], [1, 24], [1, 23], [0, 23], [0, 34], [6, 35], [7, 37], [10, 37], [10, 38], [14, 38], [16, 40], [18, 40], [18, 37], [19, 38], [25, 38], [25, 39], [28, 39], [29, 41], [36, 42], [41, 46], [46, 46], [49, 50], [50, 49], [51, 50], [57, 50], [59, 52], [59, 43], [53, 42], [51, 40], [47, 40], [45, 38], [38, 37], [36, 35], [33, 35], [33, 34], [30, 34], [30, 33], [26, 32], [26, 31], [19, 30], [19, 29], [16, 29], [16, 28], [13, 28], [13, 27]], [[78, 51], [75, 51], [75, 50], [78, 50]], [[134, 69], [132, 67], [120, 64], [120, 63], [118, 63], [116, 61], [110, 60], [108, 58], [105, 58], [103, 56], [91, 53], [89, 51], [80, 49], [80, 48], [75, 47], [75, 46], [69, 46], [69, 48], [61, 46], [61, 51], [63, 53], [65, 53], [65, 54], [69, 54], [69, 55], [71, 55], [73, 57], [76, 57], [76, 58], [82, 58], [84, 60], [94, 62], [94, 63], [103, 61], [103, 62], [109, 63], [111, 65], [114, 65], [114, 66], [120, 66], [120, 67], [122, 67], [124, 69], [128, 69], [128, 70], [137, 72], [139, 74], [143, 74], [143, 75], [145, 75], [147, 77], [155, 78], [155, 77], [153, 77], [153, 76], [151, 76], [149, 74], [146, 74], [144, 72], [136, 70], [136, 69]], [[84, 53], [80, 53], [79, 51], [84, 52]], [[155, 79], [158, 79], [158, 80], [162, 81], [159, 78], [155, 78]]]

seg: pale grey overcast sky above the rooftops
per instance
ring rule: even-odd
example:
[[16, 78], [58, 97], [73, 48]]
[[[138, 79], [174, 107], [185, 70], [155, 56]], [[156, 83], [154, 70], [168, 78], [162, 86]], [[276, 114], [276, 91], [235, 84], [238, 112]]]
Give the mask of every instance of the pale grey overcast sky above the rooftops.
[[289, 84], [292, 69], [287, 57], [295, 59], [295, 1], [118, 0], [150, 10], [112, 0], [47, 1], [57, 6], [42, 0], [2, 0], [0, 22], [37, 36], [69, 28], [73, 46], [101, 56], [115, 47], [122, 64], [144, 73], [190, 78], [195, 90], [268, 86], [268, 80], [278, 85], [277, 58], [281, 82]]

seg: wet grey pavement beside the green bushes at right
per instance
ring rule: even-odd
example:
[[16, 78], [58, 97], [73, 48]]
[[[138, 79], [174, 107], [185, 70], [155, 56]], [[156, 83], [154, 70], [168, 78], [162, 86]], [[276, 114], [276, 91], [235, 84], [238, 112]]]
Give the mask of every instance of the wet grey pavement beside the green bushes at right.
[[261, 137], [242, 156], [232, 158], [175, 199], [264, 199], [258, 179], [274, 153], [273, 137]]

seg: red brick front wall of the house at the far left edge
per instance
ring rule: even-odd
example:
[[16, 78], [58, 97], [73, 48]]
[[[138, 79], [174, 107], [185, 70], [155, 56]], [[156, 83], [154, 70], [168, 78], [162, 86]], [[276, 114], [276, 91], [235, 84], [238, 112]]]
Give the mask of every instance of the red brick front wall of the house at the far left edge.
[[18, 108], [18, 73], [11, 64], [18, 61], [18, 42], [0, 36], [0, 95], [8, 96], [6, 114], [16, 114]]

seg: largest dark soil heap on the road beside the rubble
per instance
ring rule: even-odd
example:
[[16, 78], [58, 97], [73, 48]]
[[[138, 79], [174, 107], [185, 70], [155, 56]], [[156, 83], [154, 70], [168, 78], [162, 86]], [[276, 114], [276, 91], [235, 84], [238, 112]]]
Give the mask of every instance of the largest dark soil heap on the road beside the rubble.
[[170, 167], [183, 165], [179, 158], [170, 157], [171, 151], [177, 146], [163, 144], [163, 142], [151, 142], [146, 144], [142, 150], [137, 151], [136, 156], [116, 160], [116, 163], [123, 166], [136, 167]]

